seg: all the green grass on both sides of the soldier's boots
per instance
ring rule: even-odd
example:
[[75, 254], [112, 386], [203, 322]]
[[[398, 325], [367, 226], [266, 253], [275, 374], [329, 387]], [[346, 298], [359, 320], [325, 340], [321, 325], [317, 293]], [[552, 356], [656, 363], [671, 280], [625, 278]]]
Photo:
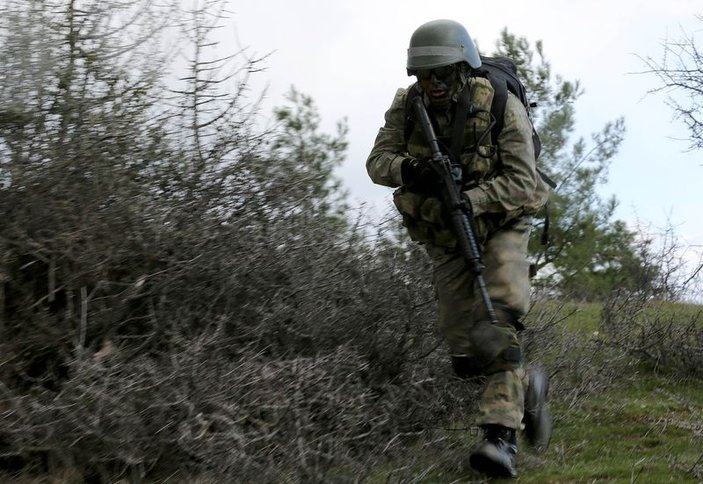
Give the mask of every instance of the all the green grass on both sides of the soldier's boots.
[[[564, 324], [574, 337], [588, 337], [598, 329], [599, 311], [597, 305], [562, 308], [569, 314]], [[555, 400], [552, 411], [548, 451], [537, 455], [521, 442], [519, 482], [703, 482], [700, 380], [674, 381], [642, 369], [599, 394]], [[379, 469], [372, 481], [480, 482], [467, 459], [476, 439], [475, 432], [428, 432], [426, 443], [408, 452], [412, 459], [394, 463], [393, 472]]]

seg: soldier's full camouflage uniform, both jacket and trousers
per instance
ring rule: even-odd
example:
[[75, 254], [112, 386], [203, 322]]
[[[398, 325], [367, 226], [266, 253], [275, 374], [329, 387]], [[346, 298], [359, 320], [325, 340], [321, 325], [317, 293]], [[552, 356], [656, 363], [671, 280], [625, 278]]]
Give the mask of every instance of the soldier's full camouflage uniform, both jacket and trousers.
[[[510, 321], [501, 318], [499, 324], [490, 324], [477, 311], [482, 306], [481, 298], [473, 275], [457, 251], [441, 201], [401, 187], [403, 160], [430, 154], [418, 126], [406, 145], [406, 98], [415, 85], [396, 93], [366, 168], [375, 183], [400, 187], [394, 202], [410, 236], [425, 244], [433, 261], [439, 326], [449, 349], [454, 357], [481, 365], [480, 372], [486, 375], [478, 424], [518, 429], [524, 412], [525, 372], [519, 360], [506, 355], [514, 354], [509, 350], [519, 351], [519, 319], [529, 307], [527, 242], [531, 215], [544, 205], [548, 192], [536, 171], [532, 125], [520, 101], [509, 94], [497, 149], [490, 132], [477, 143], [475, 133], [488, 127], [493, 88], [482, 78], [470, 78], [468, 82], [472, 104], [485, 112], [471, 117], [465, 125], [464, 146], [479, 146], [462, 152], [461, 163], [470, 174], [462, 188], [474, 212], [489, 296], [496, 308], [512, 315]], [[424, 100], [429, 105], [426, 96]], [[444, 139], [448, 145], [453, 109], [433, 110], [432, 114], [440, 141]], [[484, 156], [478, 156], [477, 151]]]

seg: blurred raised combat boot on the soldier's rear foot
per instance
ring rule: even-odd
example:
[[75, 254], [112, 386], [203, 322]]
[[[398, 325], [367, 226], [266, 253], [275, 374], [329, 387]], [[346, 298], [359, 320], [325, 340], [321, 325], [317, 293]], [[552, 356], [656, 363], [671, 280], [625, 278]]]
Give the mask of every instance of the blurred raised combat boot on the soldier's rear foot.
[[552, 438], [552, 416], [549, 412], [547, 393], [549, 377], [541, 368], [528, 371], [529, 383], [525, 392], [525, 437], [538, 451], [544, 451]]

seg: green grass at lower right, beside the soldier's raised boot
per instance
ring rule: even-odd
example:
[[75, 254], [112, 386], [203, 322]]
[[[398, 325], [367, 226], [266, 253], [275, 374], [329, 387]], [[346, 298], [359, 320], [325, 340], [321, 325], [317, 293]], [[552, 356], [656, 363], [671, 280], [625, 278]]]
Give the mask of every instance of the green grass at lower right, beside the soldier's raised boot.
[[650, 375], [574, 408], [555, 402], [551, 448], [520, 481], [701, 482], [701, 387]]

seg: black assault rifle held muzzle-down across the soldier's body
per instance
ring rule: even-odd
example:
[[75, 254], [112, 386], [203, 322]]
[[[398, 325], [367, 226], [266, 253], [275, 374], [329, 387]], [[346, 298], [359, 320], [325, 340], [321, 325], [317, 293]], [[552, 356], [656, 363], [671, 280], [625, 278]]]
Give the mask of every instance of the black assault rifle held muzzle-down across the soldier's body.
[[432, 162], [435, 171], [441, 178], [442, 199], [451, 215], [452, 228], [454, 229], [454, 234], [461, 247], [462, 255], [469, 265], [469, 270], [471, 270], [476, 279], [481, 293], [481, 299], [483, 299], [483, 304], [486, 306], [486, 311], [488, 312], [488, 317], [491, 322], [497, 323], [496, 312], [488, 296], [486, 281], [483, 278], [483, 263], [481, 262], [481, 251], [476, 241], [473, 214], [471, 213], [471, 207], [461, 193], [461, 166], [453, 165], [449, 157], [442, 154], [442, 151], [439, 149], [437, 135], [435, 135], [432, 122], [425, 109], [425, 104], [422, 102], [422, 96], [417, 96], [413, 100], [413, 109], [415, 110], [417, 119], [420, 121], [422, 132], [427, 142], [430, 144]]

